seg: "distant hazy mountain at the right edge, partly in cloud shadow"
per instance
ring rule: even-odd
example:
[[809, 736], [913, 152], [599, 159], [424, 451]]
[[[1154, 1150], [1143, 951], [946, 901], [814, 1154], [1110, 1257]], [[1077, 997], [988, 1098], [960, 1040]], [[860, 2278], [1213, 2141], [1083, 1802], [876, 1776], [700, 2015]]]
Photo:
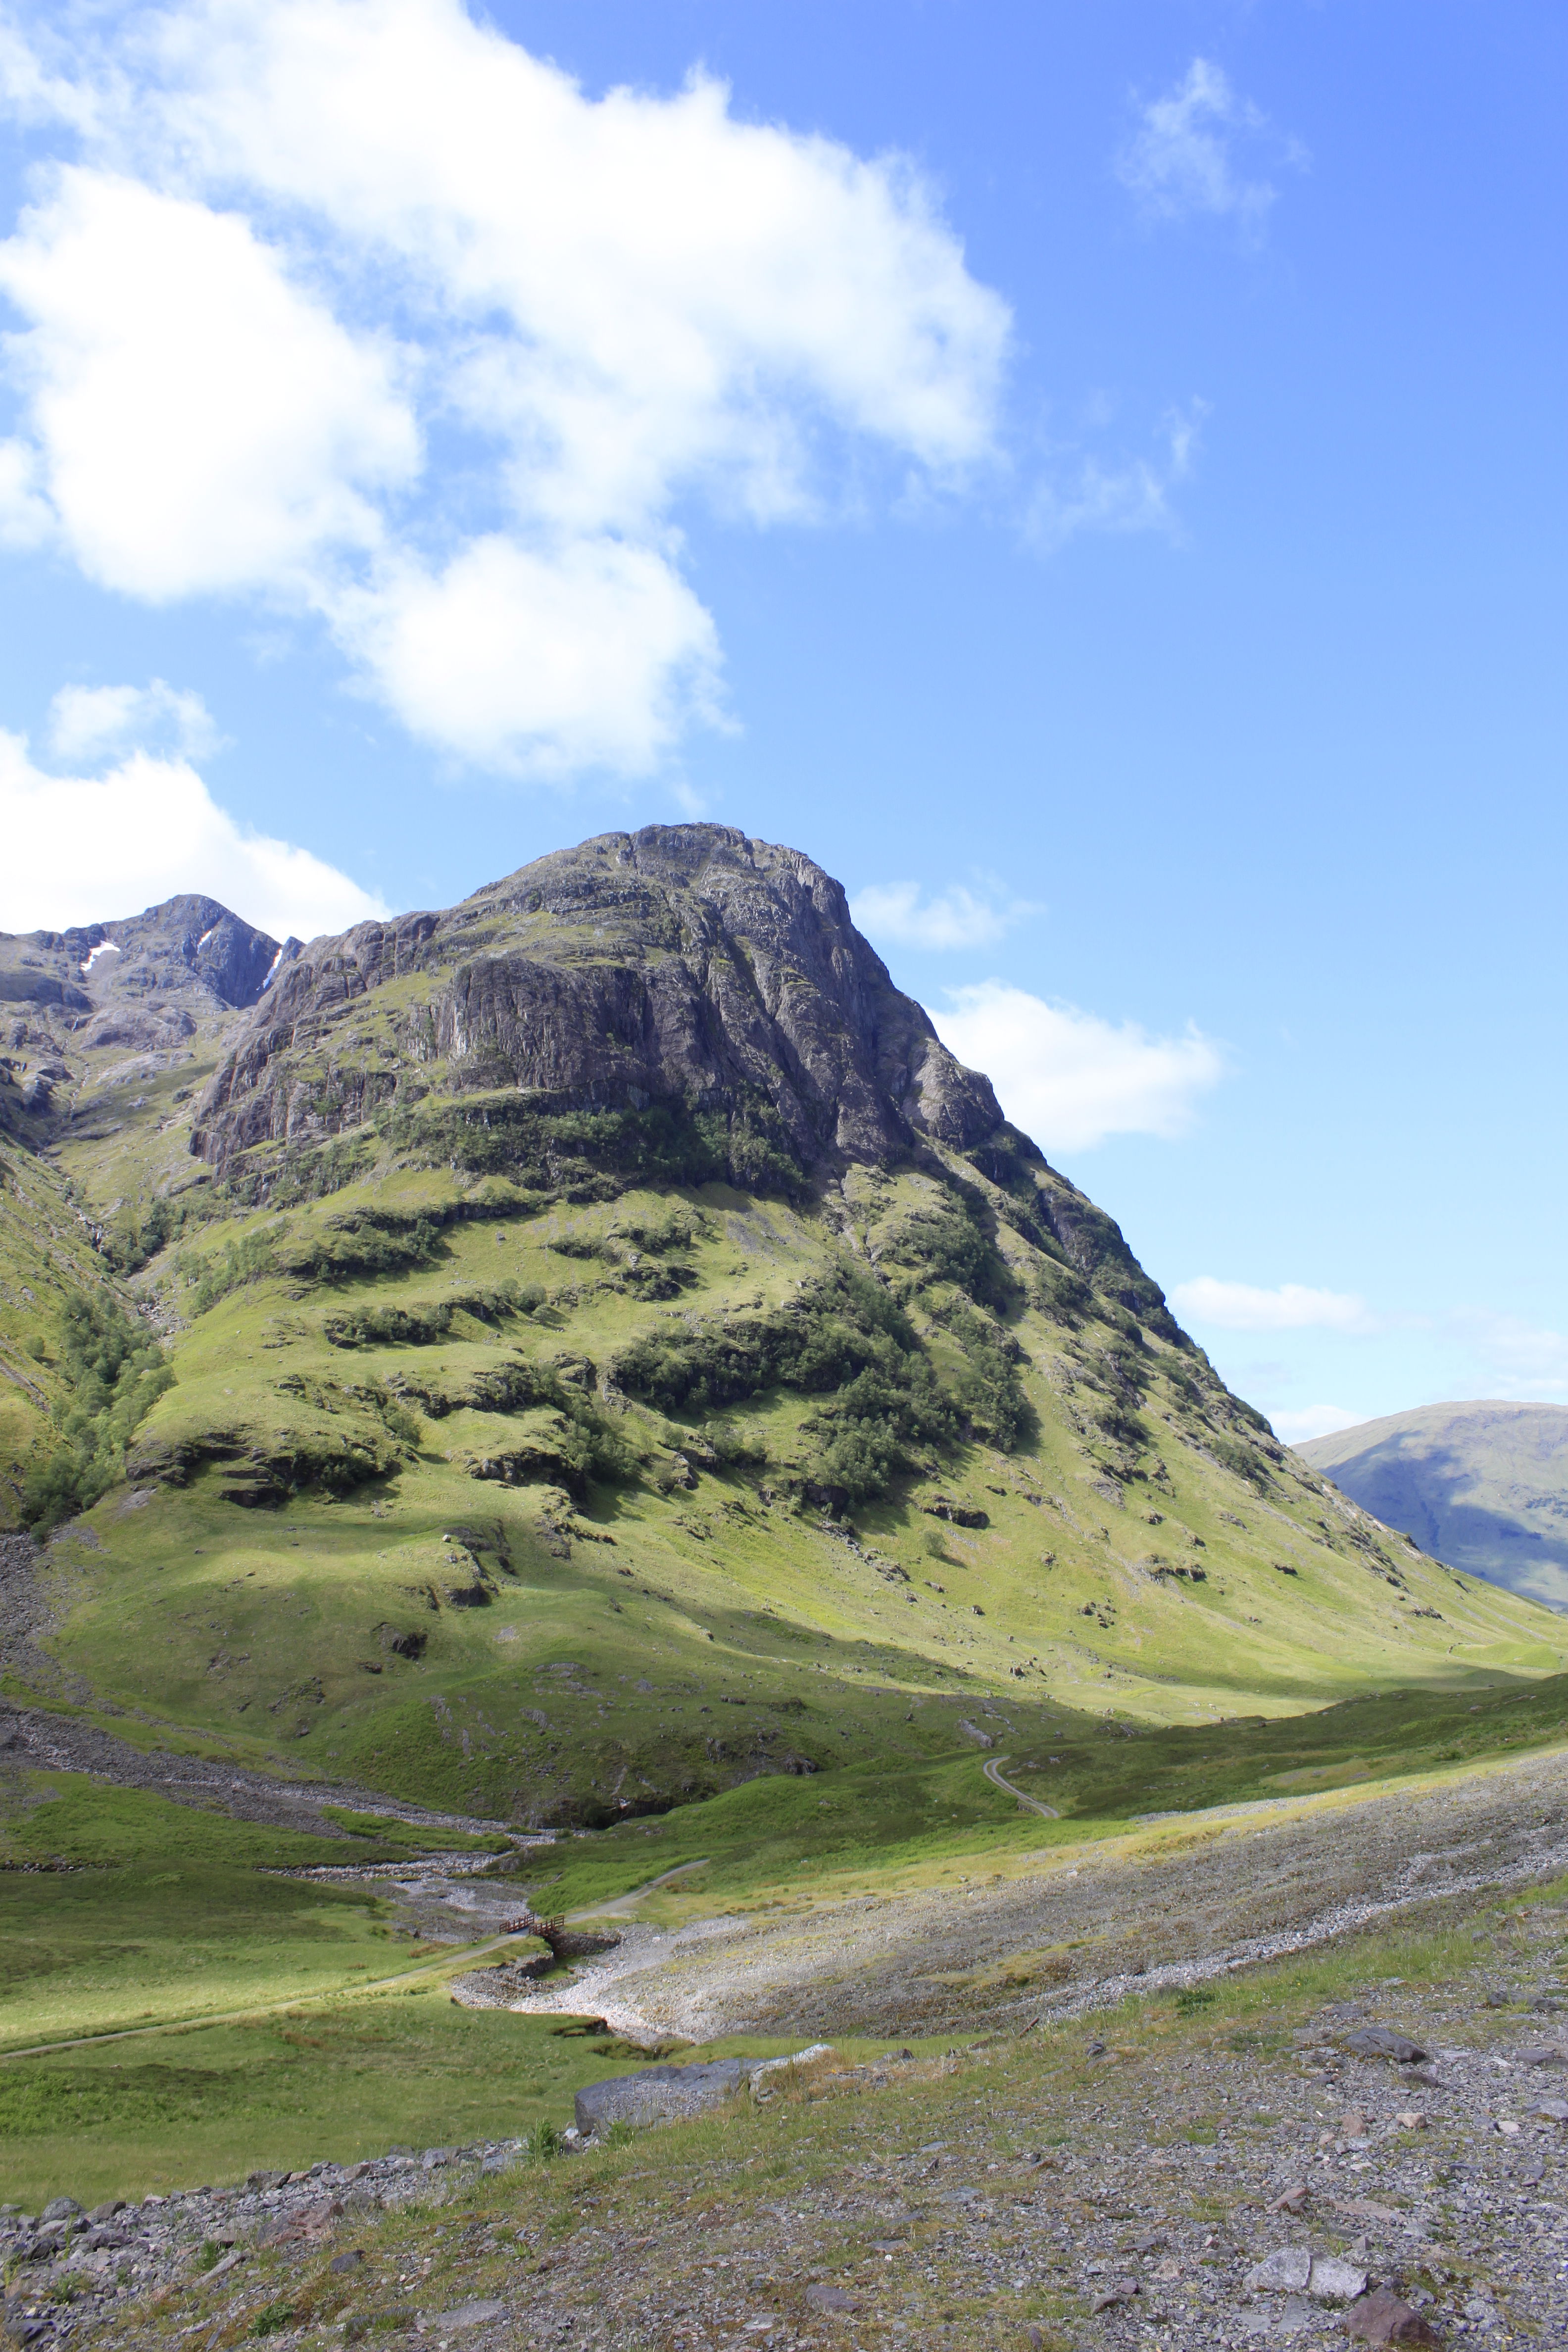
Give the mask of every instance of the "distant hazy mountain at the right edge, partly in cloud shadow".
[[1425, 1404], [1300, 1454], [1436, 1559], [1568, 1609], [1568, 1406]]

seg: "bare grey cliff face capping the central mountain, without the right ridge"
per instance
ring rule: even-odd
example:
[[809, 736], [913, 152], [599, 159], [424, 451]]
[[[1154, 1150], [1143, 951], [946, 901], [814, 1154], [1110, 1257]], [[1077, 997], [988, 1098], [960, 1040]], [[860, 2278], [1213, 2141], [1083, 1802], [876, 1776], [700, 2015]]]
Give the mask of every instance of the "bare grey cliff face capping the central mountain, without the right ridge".
[[[393, 983], [400, 1073], [346, 1056], [324, 1112], [322, 1051]], [[896, 1160], [919, 1136], [971, 1150], [1001, 1129], [990, 1082], [893, 988], [842, 887], [729, 826], [607, 833], [444, 915], [315, 941], [237, 1033], [195, 1148], [223, 1167], [355, 1124], [421, 1070], [543, 1110], [759, 1103], [802, 1167]]]

